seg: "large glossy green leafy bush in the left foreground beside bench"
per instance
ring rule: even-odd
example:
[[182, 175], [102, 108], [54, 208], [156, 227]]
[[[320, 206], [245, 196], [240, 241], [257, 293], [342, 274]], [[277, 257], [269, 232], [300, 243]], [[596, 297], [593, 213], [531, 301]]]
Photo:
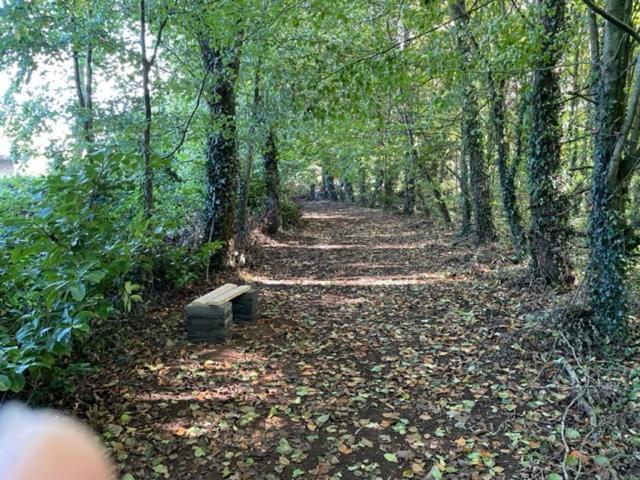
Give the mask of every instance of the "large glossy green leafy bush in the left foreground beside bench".
[[220, 248], [166, 241], [178, 222], [144, 216], [135, 160], [95, 154], [0, 184], [0, 391], [52, 372], [93, 321], [140, 302], [154, 271], [184, 285]]

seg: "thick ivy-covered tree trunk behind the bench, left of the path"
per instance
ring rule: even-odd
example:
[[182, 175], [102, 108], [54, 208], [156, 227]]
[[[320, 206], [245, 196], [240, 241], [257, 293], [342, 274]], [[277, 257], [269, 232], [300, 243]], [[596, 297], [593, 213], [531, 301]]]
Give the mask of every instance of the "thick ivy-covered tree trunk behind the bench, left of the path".
[[239, 55], [236, 49], [222, 50], [200, 38], [200, 51], [209, 85], [205, 99], [209, 106], [206, 141], [205, 232], [207, 240], [225, 244], [217, 259], [225, 266], [233, 265], [235, 240], [234, 219], [238, 157], [236, 152], [235, 79]]

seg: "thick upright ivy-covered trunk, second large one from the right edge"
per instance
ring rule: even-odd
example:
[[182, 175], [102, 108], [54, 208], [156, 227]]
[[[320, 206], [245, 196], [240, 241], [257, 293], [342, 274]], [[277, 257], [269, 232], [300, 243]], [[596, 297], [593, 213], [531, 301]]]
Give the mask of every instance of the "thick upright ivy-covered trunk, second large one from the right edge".
[[562, 96], [556, 71], [562, 55], [564, 0], [538, 0], [542, 32], [532, 91], [527, 162], [533, 273], [546, 283], [573, 281], [567, 252], [568, 208], [559, 185]]

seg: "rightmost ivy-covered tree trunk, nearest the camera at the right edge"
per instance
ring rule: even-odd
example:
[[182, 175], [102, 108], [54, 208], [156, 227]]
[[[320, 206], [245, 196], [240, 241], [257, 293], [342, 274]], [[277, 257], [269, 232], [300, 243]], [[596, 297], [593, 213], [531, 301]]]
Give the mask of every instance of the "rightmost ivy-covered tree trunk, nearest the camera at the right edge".
[[[605, 9], [628, 23], [631, 3], [607, 0]], [[637, 158], [623, 155], [626, 135], [637, 112], [640, 93], [640, 57], [635, 69], [625, 115], [625, 87], [629, 71], [629, 36], [605, 21], [601, 69], [597, 87], [597, 134], [594, 149], [589, 240], [591, 253], [587, 285], [594, 325], [607, 339], [621, 339], [627, 332], [625, 291], [625, 200], [628, 180]], [[635, 99], [634, 99], [635, 96]], [[637, 154], [637, 152], [634, 152]]]

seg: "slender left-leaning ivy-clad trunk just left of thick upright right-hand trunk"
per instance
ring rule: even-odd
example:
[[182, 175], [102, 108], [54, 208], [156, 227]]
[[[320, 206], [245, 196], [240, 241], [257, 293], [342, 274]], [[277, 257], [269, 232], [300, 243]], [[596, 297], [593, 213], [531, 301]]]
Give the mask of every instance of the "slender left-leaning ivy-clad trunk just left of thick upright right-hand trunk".
[[500, 176], [500, 196], [502, 199], [502, 210], [509, 225], [511, 241], [518, 255], [524, 250], [524, 230], [522, 228], [522, 217], [518, 209], [516, 199], [515, 172], [509, 168], [507, 140], [505, 137], [504, 120], [504, 89], [505, 82], [498, 84], [489, 76], [489, 94], [491, 95], [491, 121], [496, 142], [496, 160], [498, 164], [498, 174]]

